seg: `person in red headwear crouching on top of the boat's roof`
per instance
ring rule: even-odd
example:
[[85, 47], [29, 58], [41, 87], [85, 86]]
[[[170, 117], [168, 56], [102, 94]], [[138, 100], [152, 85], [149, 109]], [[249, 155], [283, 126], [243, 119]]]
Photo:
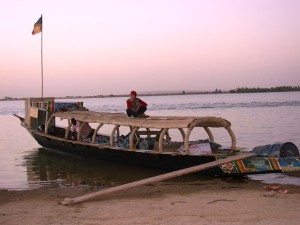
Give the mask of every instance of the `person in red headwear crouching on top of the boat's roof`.
[[130, 98], [127, 99], [126, 113], [128, 117], [147, 117], [144, 112], [147, 110], [147, 103], [136, 97], [136, 91], [131, 91]]

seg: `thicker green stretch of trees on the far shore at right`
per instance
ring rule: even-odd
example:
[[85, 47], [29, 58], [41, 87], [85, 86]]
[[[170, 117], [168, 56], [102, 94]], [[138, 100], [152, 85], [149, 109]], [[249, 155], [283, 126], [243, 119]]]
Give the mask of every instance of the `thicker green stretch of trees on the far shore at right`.
[[271, 88], [237, 88], [231, 90], [231, 93], [258, 93], [258, 92], [289, 92], [289, 91], [300, 91], [300, 85], [298, 86], [278, 86]]

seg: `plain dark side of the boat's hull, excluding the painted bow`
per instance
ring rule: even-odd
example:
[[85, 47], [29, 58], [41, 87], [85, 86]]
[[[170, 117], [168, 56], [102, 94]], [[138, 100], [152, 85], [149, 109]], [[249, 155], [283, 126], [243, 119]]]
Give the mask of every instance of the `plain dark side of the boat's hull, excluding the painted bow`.
[[[195, 157], [190, 155], [170, 155], [111, 149], [97, 145], [89, 145], [83, 142], [51, 139], [47, 136], [39, 135], [37, 132], [34, 132], [33, 136], [41, 146], [55, 151], [93, 159], [143, 165], [169, 171], [183, 169], [216, 160], [214, 156], [209, 155]], [[223, 175], [223, 172], [219, 167], [207, 170], [204, 173], [209, 175]]]

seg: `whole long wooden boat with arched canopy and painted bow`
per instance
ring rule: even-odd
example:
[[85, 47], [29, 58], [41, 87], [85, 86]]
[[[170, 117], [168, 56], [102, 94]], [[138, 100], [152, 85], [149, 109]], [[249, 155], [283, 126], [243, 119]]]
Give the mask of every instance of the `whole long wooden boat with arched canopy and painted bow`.
[[[231, 123], [217, 117], [159, 117], [129, 118], [125, 113], [89, 111], [82, 102], [59, 103], [53, 98], [30, 98], [25, 101], [25, 118], [21, 125], [44, 148], [100, 160], [179, 170], [246, 151], [236, 146], [237, 141]], [[81, 122], [75, 140], [70, 139], [70, 120]], [[65, 126], [59, 123], [66, 121]], [[81, 138], [85, 124], [93, 127], [93, 135]], [[103, 134], [109, 128], [108, 134]], [[207, 139], [191, 141], [201, 128]], [[215, 142], [212, 129], [223, 128], [230, 139], [229, 147]], [[171, 141], [176, 131], [181, 141]], [[200, 132], [199, 132], [200, 133]], [[198, 135], [199, 136], [199, 135]], [[258, 146], [252, 150], [257, 154], [210, 168], [202, 173], [209, 175], [244, 176], [255, 173], [300, 171], [298, 148], [291, 142]]]

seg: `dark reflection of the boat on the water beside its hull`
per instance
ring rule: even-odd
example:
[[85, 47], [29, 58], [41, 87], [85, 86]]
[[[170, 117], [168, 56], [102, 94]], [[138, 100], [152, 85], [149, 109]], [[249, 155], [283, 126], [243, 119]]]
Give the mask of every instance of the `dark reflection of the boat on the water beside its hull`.
[[116, 186], [159, 175], [161, 170], [86, 159], [39, 148], [25, 156], [29, 188], [41, 186]]

